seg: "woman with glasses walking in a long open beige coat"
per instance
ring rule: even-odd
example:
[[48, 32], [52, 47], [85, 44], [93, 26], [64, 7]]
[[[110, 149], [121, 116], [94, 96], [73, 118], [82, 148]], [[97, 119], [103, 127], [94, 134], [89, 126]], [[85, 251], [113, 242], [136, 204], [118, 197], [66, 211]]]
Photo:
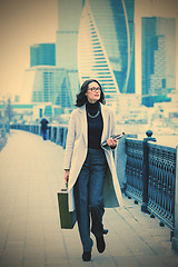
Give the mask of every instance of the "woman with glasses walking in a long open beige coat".
[[[91, 259], [92, 239], [96, 237], [99, 253], [106, 248], [103, 239], [103, 207], [121, 205], [121, 191], [117, 179], [112, 149], [117, 140], [115, 117], [105, 106], [101, 85], [86, 80], [77, 96], [78, 107], [71, 112], [65, 152], [65, 180], [68, 182], [69, 210], [76, 208], [82, 243], [82, 259]], [[108, 146], [101, 144], [107, 140]], [[75, 207], [76, 206], [76, 207]]]

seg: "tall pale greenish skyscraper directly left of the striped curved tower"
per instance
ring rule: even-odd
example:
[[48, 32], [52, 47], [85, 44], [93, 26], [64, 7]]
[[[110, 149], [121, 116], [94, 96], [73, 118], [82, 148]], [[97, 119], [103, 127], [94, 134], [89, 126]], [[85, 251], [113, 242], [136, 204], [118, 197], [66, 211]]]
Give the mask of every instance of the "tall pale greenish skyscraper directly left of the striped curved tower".
[[[67, 72], [68, 88], [75, 103], [76, 93], [79, 91], [78, 78], [78, 33], [82, 10], [82, 0], [58, 0], [58, 31], [57, 31], [57, 67]], [[67, 90], [67, 88], [62, 88]]]

